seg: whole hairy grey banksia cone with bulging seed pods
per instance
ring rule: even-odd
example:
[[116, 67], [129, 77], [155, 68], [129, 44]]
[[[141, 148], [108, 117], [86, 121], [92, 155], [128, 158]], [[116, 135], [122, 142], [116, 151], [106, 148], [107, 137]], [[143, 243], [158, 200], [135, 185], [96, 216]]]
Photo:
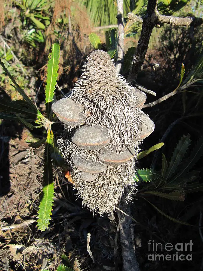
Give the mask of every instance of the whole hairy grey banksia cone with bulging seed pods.
[[140, 109], [145, 101], [143, 92], [115, 72], [109, 55], [96, 50], [69, 97], [52, 105], [66, 124], [60, 150], [89, 209], [112, 214], [122, 196], [134, 190], [134, 157], [140, 141], [154, 130]]

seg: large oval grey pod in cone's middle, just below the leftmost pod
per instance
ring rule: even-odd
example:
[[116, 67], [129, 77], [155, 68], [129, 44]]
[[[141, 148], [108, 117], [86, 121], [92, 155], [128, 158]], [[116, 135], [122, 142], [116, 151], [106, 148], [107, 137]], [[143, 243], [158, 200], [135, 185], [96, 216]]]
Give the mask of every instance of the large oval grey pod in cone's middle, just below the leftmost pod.
[[76, 129], [71, 139], [75, 145], [92, 151], [104, 148], [110, 142], [108, 130], [98, 125]]

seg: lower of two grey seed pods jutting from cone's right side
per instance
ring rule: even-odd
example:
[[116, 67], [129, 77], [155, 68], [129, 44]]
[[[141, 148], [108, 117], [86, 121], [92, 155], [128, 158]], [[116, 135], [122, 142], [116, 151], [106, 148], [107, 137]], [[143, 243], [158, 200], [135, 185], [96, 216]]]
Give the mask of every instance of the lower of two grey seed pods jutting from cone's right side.
[[142, 124], [139, 127], [139, 134], [133, 136], [134, 141], [143, 140], [154, 131], [155, 125], [146, 114], [142, 115], [141, 121]]

